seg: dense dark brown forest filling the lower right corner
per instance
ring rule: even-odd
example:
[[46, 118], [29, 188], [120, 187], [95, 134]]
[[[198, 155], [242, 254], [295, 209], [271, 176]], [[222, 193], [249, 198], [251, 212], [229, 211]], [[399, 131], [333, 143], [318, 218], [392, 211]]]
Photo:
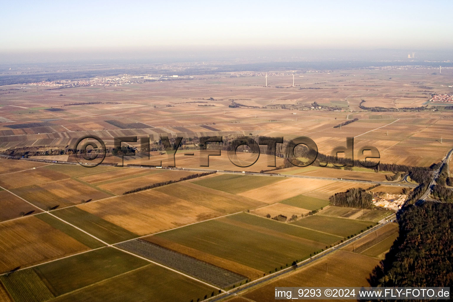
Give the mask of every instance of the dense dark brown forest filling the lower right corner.
[[398, 217], [400, 234], [370, 276], [371, 286], [453, 286], [453, 204], [425, 201]]

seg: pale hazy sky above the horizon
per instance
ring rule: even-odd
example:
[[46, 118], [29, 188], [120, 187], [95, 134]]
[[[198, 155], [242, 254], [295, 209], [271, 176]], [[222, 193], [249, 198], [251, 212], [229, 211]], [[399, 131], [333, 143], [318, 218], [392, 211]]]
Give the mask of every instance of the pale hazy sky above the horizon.
[[2, 1], [0, 51], [193, 46], [451, 49], [452, 11], [453, 0]]

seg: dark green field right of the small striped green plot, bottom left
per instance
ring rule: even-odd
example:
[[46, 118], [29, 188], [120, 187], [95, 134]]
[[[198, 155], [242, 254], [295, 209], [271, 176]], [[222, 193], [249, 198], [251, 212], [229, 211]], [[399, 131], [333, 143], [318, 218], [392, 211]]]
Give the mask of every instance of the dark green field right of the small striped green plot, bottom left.
[[96, 249], [34, 268], [59, 296], [149, 264], [112, 247]]

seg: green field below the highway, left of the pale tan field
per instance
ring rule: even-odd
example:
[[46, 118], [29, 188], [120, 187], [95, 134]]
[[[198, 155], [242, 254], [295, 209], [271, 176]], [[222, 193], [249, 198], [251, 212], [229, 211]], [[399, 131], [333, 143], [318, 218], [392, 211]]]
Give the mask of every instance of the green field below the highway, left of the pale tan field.
[[251, 189], [263, 187], [273, 182], [282, 180], [283, 177], [221, 174], [194, 181], [197, 185], [220, 190], [232, 194], [245, 192]]

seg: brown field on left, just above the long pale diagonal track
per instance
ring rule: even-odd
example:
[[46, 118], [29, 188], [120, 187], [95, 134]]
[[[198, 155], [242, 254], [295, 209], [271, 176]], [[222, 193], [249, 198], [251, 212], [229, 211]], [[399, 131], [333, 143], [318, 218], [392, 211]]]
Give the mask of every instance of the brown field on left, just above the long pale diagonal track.
[[39, 206], [43, 210], [57, 206], [63, 208], [84, 203], [87, 200], [97, 200], [111, 195], [96, 190], [95, 188], [66, 179], [57, 182], [48, 182], [41, 185], [31, 185], [12, 189], [11, 192], [25, 200]]

